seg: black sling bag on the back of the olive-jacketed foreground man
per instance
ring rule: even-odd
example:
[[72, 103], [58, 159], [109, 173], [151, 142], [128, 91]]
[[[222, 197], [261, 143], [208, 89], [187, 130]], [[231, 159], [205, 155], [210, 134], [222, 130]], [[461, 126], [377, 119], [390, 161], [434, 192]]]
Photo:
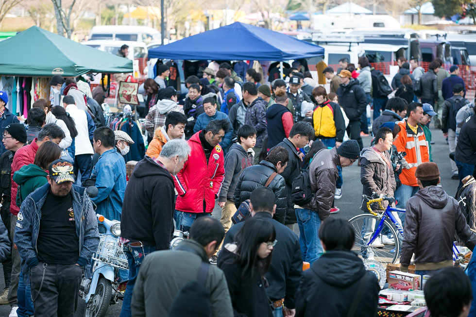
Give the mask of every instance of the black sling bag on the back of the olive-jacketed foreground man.
[[210, 264], [200, 263], [196, 281], [185, 284], [169, 308], [169, 317], [209, 317], [212, 315], [210, 293], [205, 288]]

